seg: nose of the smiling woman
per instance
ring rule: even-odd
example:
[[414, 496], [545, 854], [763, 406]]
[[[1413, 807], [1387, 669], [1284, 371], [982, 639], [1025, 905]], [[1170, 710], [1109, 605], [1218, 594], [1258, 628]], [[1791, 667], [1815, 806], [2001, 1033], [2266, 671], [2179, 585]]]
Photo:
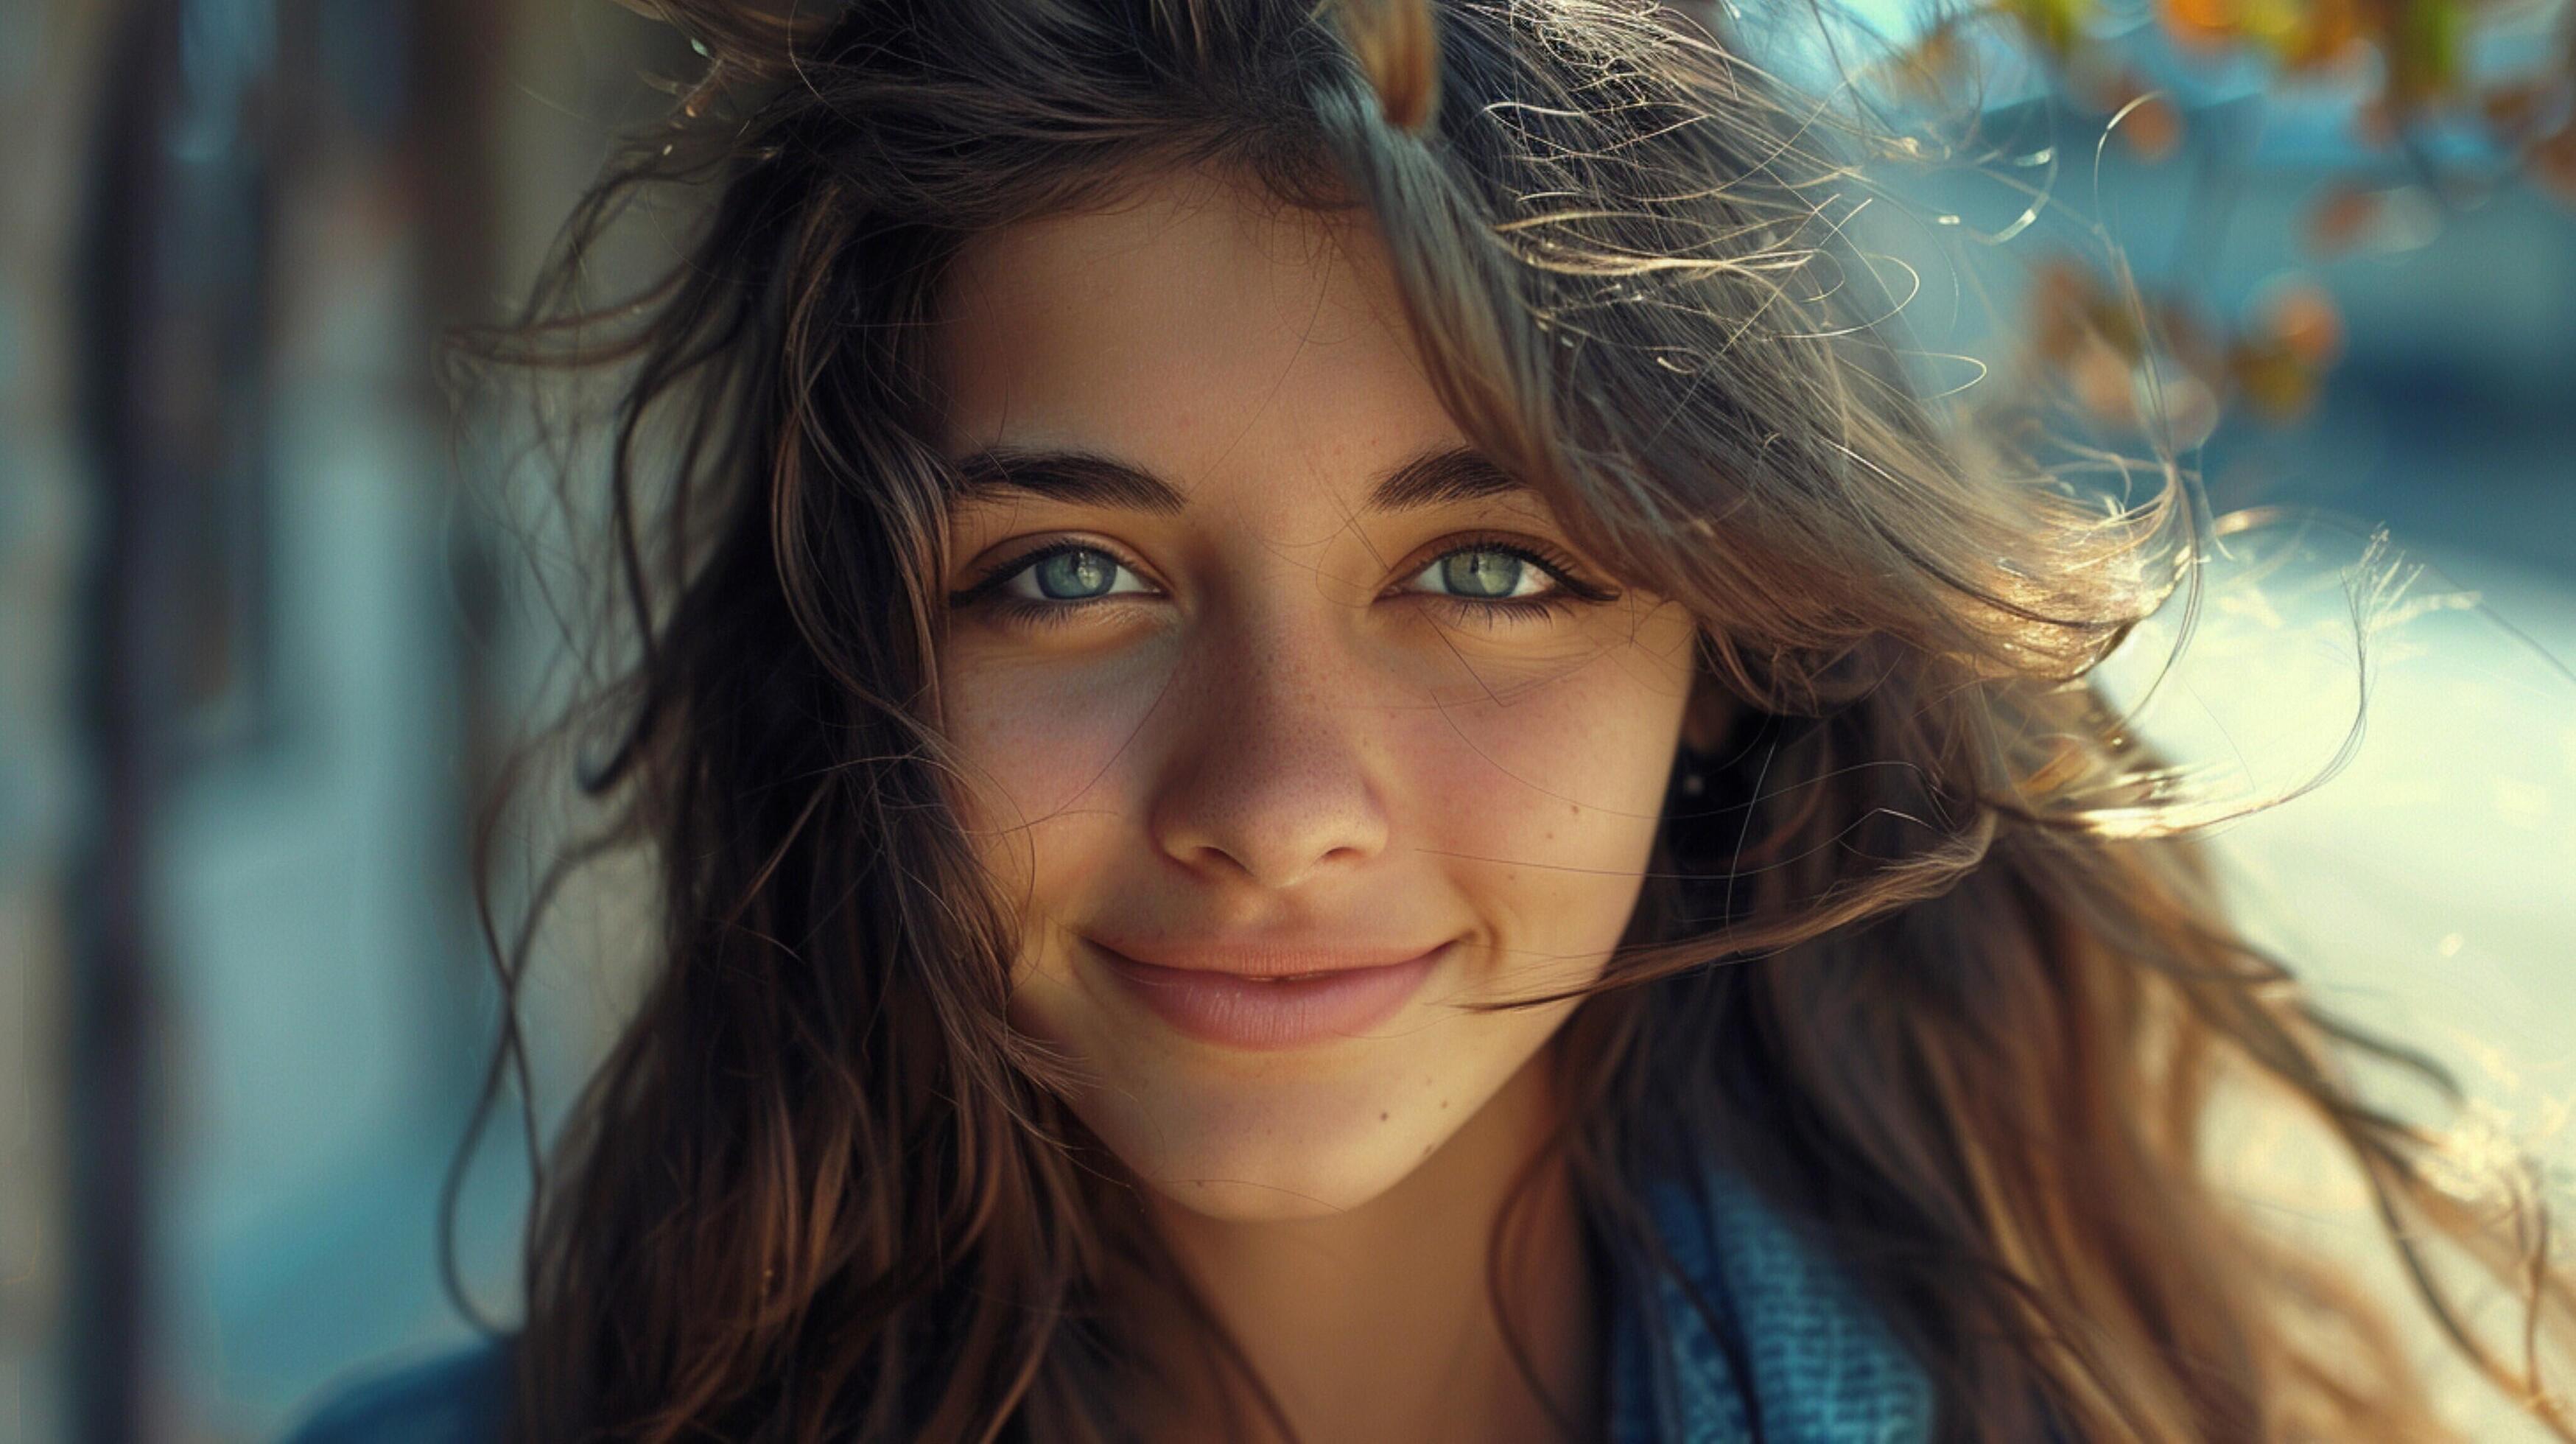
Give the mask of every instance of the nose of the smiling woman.
[[[1383, 748], [1360, 668], [1329, 621], [1206, 637], [1172, 678], [1175, 737], [1146, 807], [1182, 866], [1265, 890], [1386, 851]], [[1383, 732], [1376, 735], [1383, 743]]]

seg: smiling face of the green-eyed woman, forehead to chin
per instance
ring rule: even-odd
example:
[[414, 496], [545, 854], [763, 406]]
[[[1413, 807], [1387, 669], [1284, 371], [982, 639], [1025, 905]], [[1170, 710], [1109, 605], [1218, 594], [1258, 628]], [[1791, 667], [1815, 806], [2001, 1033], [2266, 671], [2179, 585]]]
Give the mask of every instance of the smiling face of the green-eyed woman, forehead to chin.
[[974, 477], [940, 691], [1023, 905], [1012, 1021], [1172, 1202], [1378, 1196], [1574, 1008], [1461, 1003], [1625, 931], [1690, 616], [1466, 449], [1365, 227], [1167, 178], [992, 232], [935, 366]]

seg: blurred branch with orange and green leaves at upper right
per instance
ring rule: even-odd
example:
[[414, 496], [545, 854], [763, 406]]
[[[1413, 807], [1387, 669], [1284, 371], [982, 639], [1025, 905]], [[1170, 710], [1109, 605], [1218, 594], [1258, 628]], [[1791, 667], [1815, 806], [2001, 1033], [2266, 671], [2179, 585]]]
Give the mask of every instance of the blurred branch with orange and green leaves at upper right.
[[[2187, 95], [2218, 72], [2254, 67], [2257, 106], [2272, 95], [2344, 98], [2357, 160], [2329, 173], [2290, 237], [2311, 260], [2424, 245], [2445, 217], [2506, 186], [2576, 209], [2576, 8], [2563, 0], [2555, 10], [2506, 0], [2141, 3], [1942, 5], [1919, 15], [1862, 85], [1914, 111], [1965, 103], [1973, 134], [1989, 75], [2030, 62], [2058, 106], [2099, 124], [2099, 144], [2117, 142], [2141, 165], [2184, 150], [2202, 119]], [[2195, 147], [2177, 258], [2195, 248], [2202, 268], [2233, 206], [2226, 170], [2215, 147]], [[2218, 214], [2202, 214], [2210, 206]], [[2125, 263], [2048, 255], [2032, 266], [2025, 309], [2025, 382], [2174, 449], [2205, 438], [2223, 410], [2303, 415], [2344, 348], [2336, 304], [2306, 278], [2272, 286], [2223, 322], [2205, 284], [2141, 289]]]

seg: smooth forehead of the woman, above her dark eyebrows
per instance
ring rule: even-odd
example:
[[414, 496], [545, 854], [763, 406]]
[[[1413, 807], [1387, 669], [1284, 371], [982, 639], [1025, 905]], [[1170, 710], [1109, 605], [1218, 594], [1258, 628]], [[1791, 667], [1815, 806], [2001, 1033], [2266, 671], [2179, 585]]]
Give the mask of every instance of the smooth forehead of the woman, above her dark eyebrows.
[[951, 456], [1090, 451], [1229, 503], [1303, 482], [1347, 513], [1463, 441], [1376, 232], [1195, 173], [974, 237], [933, 366]]

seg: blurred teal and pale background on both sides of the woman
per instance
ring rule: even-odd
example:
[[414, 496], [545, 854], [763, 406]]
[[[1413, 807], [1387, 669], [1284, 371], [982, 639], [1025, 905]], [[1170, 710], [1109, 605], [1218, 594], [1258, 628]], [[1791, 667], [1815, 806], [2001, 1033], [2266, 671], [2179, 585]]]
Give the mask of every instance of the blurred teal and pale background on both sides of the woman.
[[[2349, 766], [2218, 841], [2324, 993], [2563, 1160], [2576, 46], [2563, 8], [2416, 10], [2458, 31], [2432, 80], [2306, 75], [2210, 5], [1862, 15], [1973, 116], [1868, 224], [1963, 397], [2069, 387], [2218, 511], [2293, 508], [2151, 694], [2223, 789], [2344, 753], [2370, 531], [2427, 567]], [[270, 1439], [466, 1336], [469, 846], [559, 642], [435, 338], [701, 64], [608, 0], [0, 0], [0, 1439]], [[2089, 309], [2123, 268], [2143, 340]], [[592, 879], [531, 982], [538, 1132], [616, 1021], [621, 900]], [[459, 1194], [502, 1318], [523, 1158], [502, 1119]]]

